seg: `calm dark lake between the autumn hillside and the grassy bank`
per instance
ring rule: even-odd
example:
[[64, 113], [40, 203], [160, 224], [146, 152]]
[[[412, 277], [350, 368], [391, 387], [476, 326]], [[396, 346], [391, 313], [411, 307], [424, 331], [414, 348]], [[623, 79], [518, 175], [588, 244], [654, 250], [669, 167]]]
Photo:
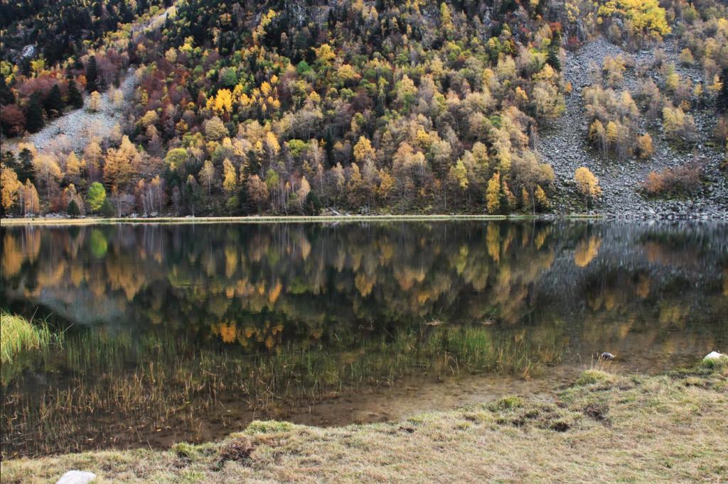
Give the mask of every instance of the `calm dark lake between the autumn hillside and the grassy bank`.
[[[728, 225], [2, 227], [2, 456], [379, 422], [728, 350]], [[596, 359], [601, 352], [613, 361]]]

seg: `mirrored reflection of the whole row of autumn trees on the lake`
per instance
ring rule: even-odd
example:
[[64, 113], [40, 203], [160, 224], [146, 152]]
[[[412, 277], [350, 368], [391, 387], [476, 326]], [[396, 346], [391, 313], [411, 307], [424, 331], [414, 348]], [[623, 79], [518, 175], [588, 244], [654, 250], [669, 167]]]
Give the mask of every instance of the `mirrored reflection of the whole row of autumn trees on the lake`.
[[[543, 324], [539, 306], [548, 302], [534, 283], [546, 282], [543, 274], [568, 247], [571, 270], [589, 276], [580, 297], [554, 299], [582, 300], [590, 324], [654, 320], [679, 328], [700, 308], [670, 294], [692, 286], [678, 275], [653, 280], [649, 268], [709, 259], [728, 271], [713, 233], [631, 225], [625, 230], [636, 230], [637, 243], [620, 245], [609, 230], [498, 222], [28, 227], [4, 230], [1, 264], [13, 299], [62, 315], [63, 307], [90, 301], [89, 321], [104, 319], [100, 307], [116, 307], [111, 314], [126, 319], [119, 323], [198, 332], [251, 349], [433, 319]], [[635, 254], [646, 265], [615, 272]], [[721, 272], [707, 278], [701, 293], [728, 291]], [[84, 293], [90, 297], [79, 298]], [[711, 307], [721, 304], [724, 297]]]

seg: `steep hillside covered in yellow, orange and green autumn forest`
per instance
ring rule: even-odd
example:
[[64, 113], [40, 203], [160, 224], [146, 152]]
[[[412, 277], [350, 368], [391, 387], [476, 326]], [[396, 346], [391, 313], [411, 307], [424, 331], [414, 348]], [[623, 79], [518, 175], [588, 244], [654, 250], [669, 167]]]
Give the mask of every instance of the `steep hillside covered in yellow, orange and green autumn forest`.
[[[720, 204], [727, 10], [716, 0], [3, 1], [0, 121], [13, 149], [3, 148], [2, 208], [583, 211], [621, 203], [609, 173], [625, 168], [646, 173], [625, 189], [640, 200]], [[604, 39], [619, 53], [572, 62]], [[81, 146], [44, 127], [103, 102], [118, 123], [101, 137], [90, 124]], [[34, 132], [48, 141], [34, 145]], [[569, 161], [579, 143], [588, 159]]]

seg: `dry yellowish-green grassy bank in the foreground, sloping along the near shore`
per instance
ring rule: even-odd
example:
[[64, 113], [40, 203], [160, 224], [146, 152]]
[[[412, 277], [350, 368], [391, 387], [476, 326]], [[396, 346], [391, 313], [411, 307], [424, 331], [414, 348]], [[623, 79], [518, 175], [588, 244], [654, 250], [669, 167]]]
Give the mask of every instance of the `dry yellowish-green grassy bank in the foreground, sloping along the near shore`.
[[254, 422], [221, 443], [9, 460], [2, 473], [7, 483], [68, 469], [99, 482], [720, 482], [726, 408], [725, 360], [661, 376], [592, 370], [553, 400], [340, 428]]

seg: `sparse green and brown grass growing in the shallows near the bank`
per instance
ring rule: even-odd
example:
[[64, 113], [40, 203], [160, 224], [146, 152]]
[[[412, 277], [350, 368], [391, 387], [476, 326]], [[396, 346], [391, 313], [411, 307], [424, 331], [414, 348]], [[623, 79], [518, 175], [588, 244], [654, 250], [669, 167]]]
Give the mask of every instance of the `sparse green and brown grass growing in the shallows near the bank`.
[[[184, 432], [200, 419], [240, 428], [244, 412], [285, 415], [302, 403], [414, 374], [528, 376], [561, 358], [556, 344], [534, 347], [480, 326], [410, 328], [387, 337], [291, 344], [253, 355], [235, 350], [205, 350], [168, 334], [133, 338], [88, 331], [69, 337], [62, 354], [41, 357], [55, 358], [55, 365], [39, 364], [71, 374], [70, 379], [39, 394], [23, 384], [4, 388], [4, 456], [140, 445], [158, 428]], [[130, 368], [133, 361], [142, 363]], [[232, 406], [235, 413], [221, 412], [221, 406]]]

